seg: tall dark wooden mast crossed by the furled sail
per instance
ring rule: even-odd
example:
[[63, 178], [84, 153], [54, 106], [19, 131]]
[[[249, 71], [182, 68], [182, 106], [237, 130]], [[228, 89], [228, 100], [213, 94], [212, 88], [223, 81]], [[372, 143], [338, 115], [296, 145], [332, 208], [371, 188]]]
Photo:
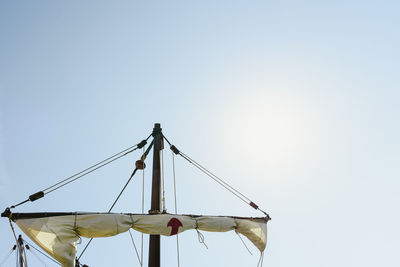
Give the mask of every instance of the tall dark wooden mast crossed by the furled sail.
[[[153, 137], [153, 180], [151, 190], [151, 210], [150, 214], [161, 213], [161, 168], [160, 152], [164, 149], [162, 129], [159, 123], [154, 124]], [[150, 235], [149, 244], [149, 267], [160, 267], [160, 236]]]

